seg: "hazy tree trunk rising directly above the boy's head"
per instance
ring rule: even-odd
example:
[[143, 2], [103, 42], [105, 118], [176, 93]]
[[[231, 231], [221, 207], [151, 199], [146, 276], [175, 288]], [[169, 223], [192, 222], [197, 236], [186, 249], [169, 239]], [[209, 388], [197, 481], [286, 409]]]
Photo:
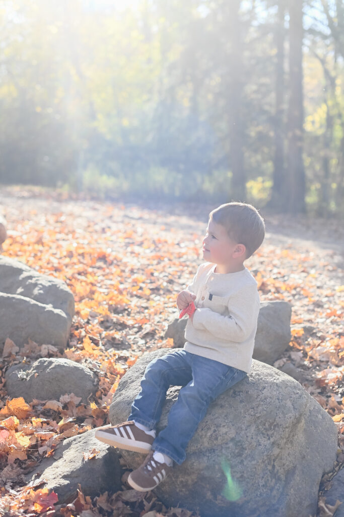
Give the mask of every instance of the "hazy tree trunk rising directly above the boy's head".
[[228, 133], [230, 138], [230, 163], [232, 188], [230, 195], [235, 201], [245, 201], [246, 177], [243, 160], [243, 115], [242, 115], [242, 29], [239, 19], [240, 0], [232, 0], [228, 9], [228, 34], [230, 37]]

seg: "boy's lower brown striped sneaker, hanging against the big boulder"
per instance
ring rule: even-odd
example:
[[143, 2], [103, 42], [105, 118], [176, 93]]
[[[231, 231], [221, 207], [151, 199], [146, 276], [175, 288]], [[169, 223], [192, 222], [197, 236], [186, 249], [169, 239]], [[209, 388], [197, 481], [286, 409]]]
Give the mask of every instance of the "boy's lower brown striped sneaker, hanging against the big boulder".
[[154, 451], [151, 451], [142, 465], [130, 472], [128, 483], [135, 490], [140, 492], [153, 490], [170, 472], [172, 465], [154, 460], [153, 454]]

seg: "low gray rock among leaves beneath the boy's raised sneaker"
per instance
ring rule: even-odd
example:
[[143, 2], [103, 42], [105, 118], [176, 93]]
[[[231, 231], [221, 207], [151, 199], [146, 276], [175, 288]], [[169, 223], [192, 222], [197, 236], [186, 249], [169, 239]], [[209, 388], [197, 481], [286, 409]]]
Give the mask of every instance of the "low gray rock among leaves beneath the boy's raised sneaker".
[[[99, 451], [92, 459], [92, 451]], [[84, 456], [85, 453], [85, 456]], [[94, 437], [94, 430], [65, 439], [54, 456], [45, 458], [26, 476], [27, 482], [44, 479], [44, 488], [54, 490], [58, 504], [70, 503], [77, 496], [78, 485], [85, 495], [99, 496], [121, 488], [121, 466], [114, 447]]]

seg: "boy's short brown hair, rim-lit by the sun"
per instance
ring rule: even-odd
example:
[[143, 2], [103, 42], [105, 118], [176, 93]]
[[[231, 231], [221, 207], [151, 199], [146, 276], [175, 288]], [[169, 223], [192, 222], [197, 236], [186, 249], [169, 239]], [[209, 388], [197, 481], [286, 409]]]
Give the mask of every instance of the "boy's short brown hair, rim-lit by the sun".
[[249, 258], [265, 237], [265, 222], [258, 210], [247, 203], [232, 201], [211, 210], [209, 219], [224, 226], [228, 236], [246, 247]]

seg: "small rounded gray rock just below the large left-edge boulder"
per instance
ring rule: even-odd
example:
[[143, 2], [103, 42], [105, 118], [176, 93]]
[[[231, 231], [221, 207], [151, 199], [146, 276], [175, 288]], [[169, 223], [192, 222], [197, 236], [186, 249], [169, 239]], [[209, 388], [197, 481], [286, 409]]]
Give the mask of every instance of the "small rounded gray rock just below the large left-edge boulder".
[[15, 364], [6, 374], [6, 389], [10, 397], [59, 400], [66, 393], [74, 393], [87, 402], [97, 390], [97, 377], [87, 367], [70, 359], [42, 358], [31, 365]]

